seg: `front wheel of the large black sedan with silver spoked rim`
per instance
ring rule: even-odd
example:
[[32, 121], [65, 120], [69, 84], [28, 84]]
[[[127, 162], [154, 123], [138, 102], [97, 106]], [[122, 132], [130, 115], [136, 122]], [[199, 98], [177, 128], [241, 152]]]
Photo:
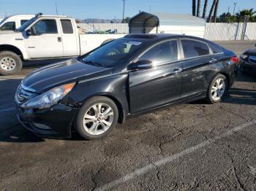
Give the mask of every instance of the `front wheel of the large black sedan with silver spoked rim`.
[[[100, 104], [102, 105], [100, 106]], [[105, 112], [106, 115], [104, 115]], [[110, 133], [116, 127], [117, 121], [118, 108], [116, 104], [110, 98], [98, 96], [90, 98], [83, 104], [78, 113], [75, 128], [84, 139], [94, 140]]]

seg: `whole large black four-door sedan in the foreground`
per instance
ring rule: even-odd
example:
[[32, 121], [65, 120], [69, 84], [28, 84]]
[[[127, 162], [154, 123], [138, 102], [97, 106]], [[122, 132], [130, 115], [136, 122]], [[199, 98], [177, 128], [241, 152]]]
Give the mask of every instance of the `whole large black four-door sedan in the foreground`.
[[129, 34], [29, 74], [15, 94], [18, 119], [39, 136], [75, 130], [99, 139], [117, 122], [163, 106], [222, 101], [237, 63], [234, 52], [205, 39]]

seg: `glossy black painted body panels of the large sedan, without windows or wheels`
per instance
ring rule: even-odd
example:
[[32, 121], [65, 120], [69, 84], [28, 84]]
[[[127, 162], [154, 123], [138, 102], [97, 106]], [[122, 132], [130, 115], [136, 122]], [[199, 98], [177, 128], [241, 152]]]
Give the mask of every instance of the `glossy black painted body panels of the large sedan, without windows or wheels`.
[[[183, 59], [152, 69], [131, 71], [127, 69], [129, 63], [135, 61], [138, 55], [158, 42], [189, 38], [213, 43], [192, 36], [179, 35], [156, 35], [150, 38], [138, 35], [125, 38], [146, 40], [148, 43], [141, 48], [141, 51], [131, 55], [127, 62], [115, 68], [92, 66], [81, 63], [78, 58], [46, 66], [23, 79], [23, 85], [37, 90], [38, 94], [68, 82], [77, 82], [77, 84], [59, 104], [48, 109], [31, 111], [31, 109], [20, 109], [20, 104], [17, 104], [20, 121], [39, 136], [65, 138], [71, 136], [72, 125], [80, 106], [91, 97], [105, 95], [113, 99], [119, 110], [118, 122], [124, 122], [127, 117], [143, 114], [162, 106], [206, 98], [208, 86], [216, 74], [225, 74], [230, 85], [235, 81], [236, 66], [229, 62], [235, 54], [224, 48], [222, 48], [223, 53], [215, 55]], [[217, 62], [210, 63], [212, 58], [217, 59]], [[182, 71], [176, 73], [176, 69], [182, 69]], [[40, 130], [31, 122], [48, 125], [53, 132]]]

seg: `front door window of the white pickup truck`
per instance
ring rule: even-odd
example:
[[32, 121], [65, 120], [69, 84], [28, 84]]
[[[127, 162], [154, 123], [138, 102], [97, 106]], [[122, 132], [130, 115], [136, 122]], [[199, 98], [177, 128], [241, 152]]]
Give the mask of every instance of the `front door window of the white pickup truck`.
[[37, 35], [40, 34], [57, 34], [57, 25], [56, 25], [56, 20], [39, 20], [36, 24], [33, 26], [34, 32]]

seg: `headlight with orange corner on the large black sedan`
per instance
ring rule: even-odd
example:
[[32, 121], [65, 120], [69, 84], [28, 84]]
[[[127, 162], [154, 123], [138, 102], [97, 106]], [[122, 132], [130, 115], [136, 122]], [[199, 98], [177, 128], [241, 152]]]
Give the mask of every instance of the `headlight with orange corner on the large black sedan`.
[[21, 107], [29, 109], [29, 108], [48, 108], [53, 104], [56, 104], [61, 98], [64, 98], [67, 93], [75, 86], [75, 83], [70, 83], [67, 85], [61, 85], [59, 87], [54, 87], [51, 90], [48, 90], [41, 95], [38, 95], [35, 98], [32, 98], [29, 101], [26, 101]]

